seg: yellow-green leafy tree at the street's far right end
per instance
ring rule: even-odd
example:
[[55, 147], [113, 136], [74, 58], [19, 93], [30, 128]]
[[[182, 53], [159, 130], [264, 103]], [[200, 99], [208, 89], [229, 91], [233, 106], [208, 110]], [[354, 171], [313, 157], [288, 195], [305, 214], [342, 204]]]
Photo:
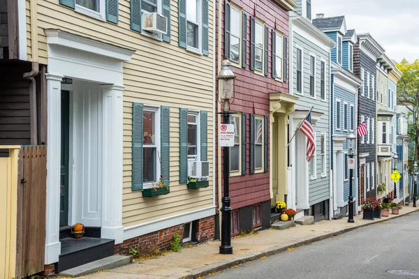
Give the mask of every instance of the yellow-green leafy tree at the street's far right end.
[[397, 103], [404, 105], [408, 114], [409, 137], [415, 143], [415, 160], [419, 153], [419, 60], [409, 63], [406, 59], [397, 68], [402, 72], [402, 78], [397, 83]]

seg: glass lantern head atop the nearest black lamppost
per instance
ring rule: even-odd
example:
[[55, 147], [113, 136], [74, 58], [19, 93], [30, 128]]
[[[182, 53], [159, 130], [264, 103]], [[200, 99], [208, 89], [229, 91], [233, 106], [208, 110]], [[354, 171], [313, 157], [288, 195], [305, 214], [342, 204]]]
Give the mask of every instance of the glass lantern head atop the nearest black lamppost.
[[228, 112], [230, 105], [235, 100], [235, 78], [233, 71], [230, 70], [231, 62], [228, 59], [224, 59], [221, 62], [221, 70], [216, 76], [216, 80], [219, 82], [219, 98], [218, 101], [223, 105], [224, 112]]

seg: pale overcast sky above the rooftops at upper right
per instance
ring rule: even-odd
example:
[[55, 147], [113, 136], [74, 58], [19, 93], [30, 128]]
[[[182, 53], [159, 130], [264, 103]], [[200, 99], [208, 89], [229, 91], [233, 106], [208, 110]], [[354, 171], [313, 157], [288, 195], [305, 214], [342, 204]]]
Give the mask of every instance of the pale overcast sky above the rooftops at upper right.
[[419, 0], [311, 0], [313, 18], [345, 15], [346, 27], [370, 33], [397, 62], [419, 59]]

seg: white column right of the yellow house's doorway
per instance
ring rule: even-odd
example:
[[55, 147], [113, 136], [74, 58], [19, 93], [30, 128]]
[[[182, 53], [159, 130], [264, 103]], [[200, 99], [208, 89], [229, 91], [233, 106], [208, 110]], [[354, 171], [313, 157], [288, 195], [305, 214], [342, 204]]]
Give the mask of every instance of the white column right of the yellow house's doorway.
[[122, 227], [122, 95], [124, 86], [102, 85], [103, 90], [103, 239], [124, 241]]

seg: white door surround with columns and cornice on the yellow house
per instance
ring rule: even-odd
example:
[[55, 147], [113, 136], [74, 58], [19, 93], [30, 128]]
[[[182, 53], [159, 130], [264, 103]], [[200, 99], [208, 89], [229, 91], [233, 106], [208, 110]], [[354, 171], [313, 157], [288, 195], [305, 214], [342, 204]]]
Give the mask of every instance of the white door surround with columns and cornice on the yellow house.
[[[61, 158], [61, 80], [68, 77], [99, 85], [102, 112], [97, 123], [103, 146], [101, 165], [101, 237], [124, 240], [122, 227], [122, 96], [124, 90], [123, 61], [129, 61], [133, 50], [84, 38], [57, 29], [46, 29], [48, 49], [47, 78], [47, 202], [45, 264], [58, 262], [59, 242], [59, 185]], [[71, 158], [72, 159], [72, 158]], [[72, 165], [72, 164], [71, 164]], [[98, 196], [96, 196], [98, 197]], [[97, 214], [96, 214], [97, 217]], [[75, 217], [72, 216], [72, 219]]]

